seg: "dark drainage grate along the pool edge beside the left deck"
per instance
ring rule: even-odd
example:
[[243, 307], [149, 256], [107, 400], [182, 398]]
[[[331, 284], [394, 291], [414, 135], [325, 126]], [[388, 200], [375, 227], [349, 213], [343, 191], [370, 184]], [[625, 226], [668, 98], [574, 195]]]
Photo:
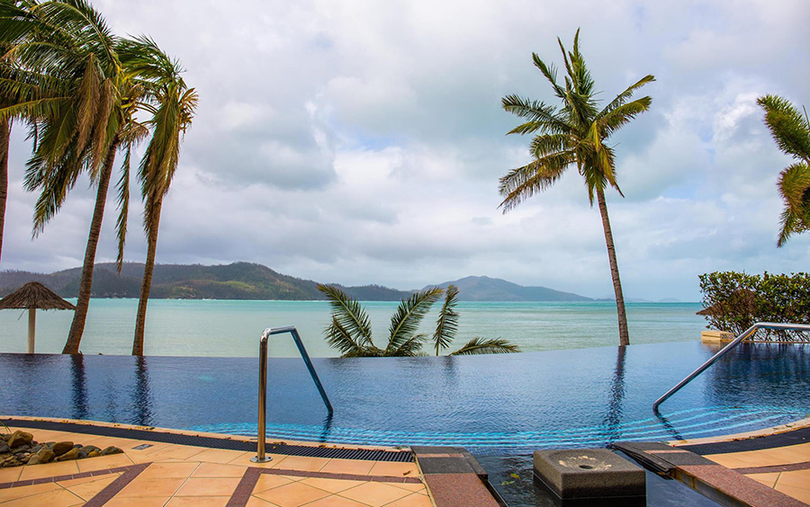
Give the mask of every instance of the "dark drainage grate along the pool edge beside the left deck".
[[[181, 435], [162, 431], [130, 430], [127, 428], [93, 426], [90, 424], [78, 423], [60, 423], [56, 421], [4, 419], [3, 422], [8, 426], [32, 428], [36, 430], [88, 433], [93, 435], [102, 435], [104, 437], [149, 440], [161, 443], [207, 447], [211, 449], [256, 450], [256, 442], [244, 440], [218, 439], [215, 437]], [[269, 444], [267, 445], [267, 450], [274, 454], [283, 454], [285, 456], [305, 456], [308, 458], [362, 459], [365, 461], [392, 461], [398, 463], [410, 463], [413, 461], [413, 454], [410, 452], [410, 450], [335, 449], [307, 445], [292, 445], [286, 443]]]

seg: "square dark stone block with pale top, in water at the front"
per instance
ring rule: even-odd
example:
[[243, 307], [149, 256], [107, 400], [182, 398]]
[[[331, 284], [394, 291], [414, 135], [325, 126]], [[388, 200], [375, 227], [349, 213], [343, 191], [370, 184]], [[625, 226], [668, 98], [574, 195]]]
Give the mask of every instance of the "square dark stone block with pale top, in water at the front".
[[644, 469], [608, 449], [538, 450], [535, 475], [562, 499], [646, 495]]

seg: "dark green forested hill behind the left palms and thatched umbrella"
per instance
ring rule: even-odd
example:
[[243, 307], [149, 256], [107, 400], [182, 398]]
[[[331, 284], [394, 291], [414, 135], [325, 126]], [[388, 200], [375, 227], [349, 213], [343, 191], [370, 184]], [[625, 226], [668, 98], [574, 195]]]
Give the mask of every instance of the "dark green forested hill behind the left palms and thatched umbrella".
[[[63, 298], [76, 298], [81, 273], [81, 268], [50, 274], [0, 271], [0, 296], [26, 282], [39, 281]], [[96, 264], [92, 295], [94, 298], [138, 298], [142, 277], [142, 263], [125, 263], [120, 275], [113, 263]], [[184, 299], [324, 299], [317, 286], [315, 281], [287, 276], [250, 262], [217, 266], [157, 264], [149, 296]], [[410, 296], [410, 292], [378, 285], [341, 289], [353, 298], [365, 301], [399, 301]]]

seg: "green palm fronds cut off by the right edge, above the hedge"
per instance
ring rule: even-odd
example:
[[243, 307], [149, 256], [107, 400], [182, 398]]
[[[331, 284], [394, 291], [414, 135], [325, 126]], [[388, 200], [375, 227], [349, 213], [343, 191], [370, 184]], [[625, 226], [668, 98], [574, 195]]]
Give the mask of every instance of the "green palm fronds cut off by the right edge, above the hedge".
[[779, 173], [779, 194], [785, 202], [777, 246], [793, 234], [810, 230], [810, 120], [778, 95], [757, 99], [765, 110], [765, 124], [785, 155], [797, 162]]

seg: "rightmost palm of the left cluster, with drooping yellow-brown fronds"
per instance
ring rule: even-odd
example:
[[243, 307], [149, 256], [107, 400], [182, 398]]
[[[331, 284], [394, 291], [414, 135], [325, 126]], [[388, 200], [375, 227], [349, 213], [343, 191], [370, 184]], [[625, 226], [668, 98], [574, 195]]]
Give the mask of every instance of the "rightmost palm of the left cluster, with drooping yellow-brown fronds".
[[147, 261], [140, 289], [132, 355], [141, 356], [149, 290], [155, 270], [160, 211], [175, 176], [181, 138], [193, 120], [197, 93], [193, 88], [188, 88], [180, 76], [183, 69], [179, 62], [157, 48], [154, 40], [146, 37], [126, 40], [121, 44], [120, 52], [124, 65], [139, 76], [146, 90], [141, 106], [152, 115], [147, 122], [152, 136], [139, 167], [141, 197], [144, 200], [143, 227], [147, 235]]

